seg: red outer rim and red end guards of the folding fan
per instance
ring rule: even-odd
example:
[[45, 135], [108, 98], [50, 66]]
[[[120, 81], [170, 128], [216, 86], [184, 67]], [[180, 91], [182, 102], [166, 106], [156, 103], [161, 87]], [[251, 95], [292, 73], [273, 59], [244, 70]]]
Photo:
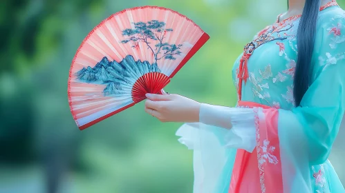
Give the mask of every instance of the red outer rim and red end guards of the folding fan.
[[[192, 21], [192, 19], [189, 19], [188, 17], [186, 17], [183, 14], [180, 14], [179, 12], [176, 12], [174, 10], [171, 10], [169, 8], [162, 8], [162, 7], [158, 7], [158, 6], [141, 6], [141, 7], [134, 7], [134, 8], [128, 8], [125, 10], [122, 10], [120, 12], [116, 12], [114, 14], [111, 14], [110, 17], [104, 19], [101, 23], [99, 23], [97, 26], [95, 26], [95, 28], [93, 28], [93, 30], [91, 30], [91, 32], [89, 32], [87, 34], [87, 36], [84, 38], [84, 40], [82, 41], [82, 43], [80, 44], [79, 48], [77, 49], [77, 52], [75, 52], [75, 56], [73, 57], [72, 60], [72, 64], [71, 64], [71, 68], [69, 70], [69, 75], [68, 75], [68, 88], [67, 88], [67, 95], [68, 95], [68, 105], [70, 106], [70, 110], [71, 110], [71, 114], [73, 116], [73, 119], [75, 120], [75, 123], [77, 124], [77, 127], [80, 130], [84, 130], [88, 127], [90, 127], [91, 125], [94, 125], [95, 123], [98, 123], [100, 121], [103, 121], [106, 118], [109, 118], [109, 116], [113, 116], [114, 114], [117, 114], [118, 112], [122, 112], [123, 110], [126, 110], [127, 108], [130, 108], [131, 106], [135, 105], [136, 103], [131, 103], [129, 105], [124, 106], [123, 108], [120, 108], [118, 110], [115, 110], [114, 112], [111, 112], [109, 114], [106, 114], [98, 119], [95, 119], [93, 121], [91, 121], [90, 123], [86, 123], [85, 125], [80, 125], [77, 121], [77, 117], [75, 116], [73, 107], [72, 107], [72, 101], [71, 101], [71, 79], [72, 79], [72, 69], [73, 69], [73, 65], [75, 63], [75, 59], [77, 58], [77, 55], [79, 54], [80, 50], [82, 49], [84, 43], [88, 40], [89, 37], [91, 37], [91, 35], [93, 34], [93, 32], [95, 32], [95, 30], [97, 30], [98, 28], [100, 28], [100, 26], [102, 26], [106, 21], [108, 21], [109, 19], [112, 19], [113, 17], [115, 17], [118, 14], [122, 14], [124, 12], [127, 12], [129, 10], [138, 10], [138, 9], [145, 9], [145, 8], [153, 8], [153, 9], [160, 9], [160, 10], [167, 10], [170, 12], [173, 12], [174, 14], [178, 14], [180, 17], [183, 17], [185, 19], [187, 19], [187, 21], [190, 21], [194, 24], [194, 26], [198, 27], [199, 30], [201, 30], [203, 33], [203, 35], [201, 36], [201, 38], [196, 42], [196, 44], [193, 46], [193, 48], [191, 50], [189, 50], [188, 54], [186, 55], [186, 57], [183, 59], [183, 61], [180, 62], [180, 64], [178, 65], [178, 67], [174, 70], [174, 72], [172, 72], [169, 76], [169, 78], [174, 77], [174, 75], [178, 72], [178, 70], [180, 70], [183, 65], [185, 65], [185, 63], [187, 63], [187, 61], [189, 61], [189, 59], [192, 58], [192, 56], [206, 43], [206, 41], [209, 39], [209, 35], [200, 28], [200, 26], [198, 26], [196, 23], [194, 23], [194, 21]], [[162, 93], [160, 93], [162, 94]]]

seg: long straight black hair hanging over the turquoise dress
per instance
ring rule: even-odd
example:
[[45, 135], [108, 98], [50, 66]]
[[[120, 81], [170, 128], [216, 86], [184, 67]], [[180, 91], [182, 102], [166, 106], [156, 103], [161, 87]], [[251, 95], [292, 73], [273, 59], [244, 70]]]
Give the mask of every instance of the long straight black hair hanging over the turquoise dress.
[[312, 57], [315, 45], [317, 17], [321, 0], [306, 0], [304, 10], [297, 30], [297, 65], [294, 79], [295, 105], [299, 106], [301, 99], [309, 88], [312, 75]]

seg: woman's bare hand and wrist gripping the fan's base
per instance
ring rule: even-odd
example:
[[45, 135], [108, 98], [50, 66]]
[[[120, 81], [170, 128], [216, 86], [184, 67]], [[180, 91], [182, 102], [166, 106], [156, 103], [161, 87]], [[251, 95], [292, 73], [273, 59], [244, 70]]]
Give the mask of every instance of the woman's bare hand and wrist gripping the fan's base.
[[145, 111], [162, 122], [199, 121], [200, 103], [178, 94], [146, 94]]

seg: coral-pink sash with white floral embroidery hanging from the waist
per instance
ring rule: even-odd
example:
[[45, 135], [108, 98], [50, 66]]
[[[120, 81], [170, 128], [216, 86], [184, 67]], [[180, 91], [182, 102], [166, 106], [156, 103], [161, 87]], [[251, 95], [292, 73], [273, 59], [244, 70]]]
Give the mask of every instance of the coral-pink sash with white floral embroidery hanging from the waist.
[[237, 150], [229, 193], [283, 192], [278, 110], [246, 101], [239, 101], [238, 105], [254, 108], [257, 147], [252, 153]]

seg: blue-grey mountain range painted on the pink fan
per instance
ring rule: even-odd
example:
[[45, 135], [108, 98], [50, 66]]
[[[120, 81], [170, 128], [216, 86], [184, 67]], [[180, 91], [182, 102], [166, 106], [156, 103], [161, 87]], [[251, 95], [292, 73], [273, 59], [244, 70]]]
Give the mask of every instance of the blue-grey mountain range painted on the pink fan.
[[95, 67], [82, 68], [75, 75], [78, 81], [84, 83], [106, 85], [103, 93], [109, 96], [125, 94], [122, 85], [131, 87], [139, 77], [149, 72], [160, 72], [160, 69], [156, 63], [151, 65], [148, 61], [135, 61], [133, 56], [127, 55], [120, 63], [104, 57]]

